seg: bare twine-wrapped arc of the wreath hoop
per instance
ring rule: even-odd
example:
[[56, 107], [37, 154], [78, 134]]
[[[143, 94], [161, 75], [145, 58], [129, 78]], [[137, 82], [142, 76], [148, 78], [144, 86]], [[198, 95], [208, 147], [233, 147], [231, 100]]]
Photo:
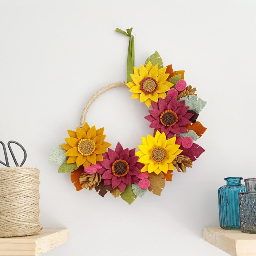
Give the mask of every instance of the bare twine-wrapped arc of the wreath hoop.
[[86, 114], [90, 108], [90, 106], [92, 105], [92, 103], [104, 92], [106, 92], [107, 90], [110, 90], [112, 88], [116, 88], [116, 87], [121, 87], [121, 86], [125, 86], [126, 82], [116, 82], [113, 84], [109, 84], [104, 86], [103, 88], [101, 88], [99, 91], [97, 91], [89, 100], [88, 102], [85, 104], [82, 115], [81, 115], [81, 119], [80, 119], [80, 128], [83, 128], [84, 123], [85, 123], [85, 118], [86, 118]]

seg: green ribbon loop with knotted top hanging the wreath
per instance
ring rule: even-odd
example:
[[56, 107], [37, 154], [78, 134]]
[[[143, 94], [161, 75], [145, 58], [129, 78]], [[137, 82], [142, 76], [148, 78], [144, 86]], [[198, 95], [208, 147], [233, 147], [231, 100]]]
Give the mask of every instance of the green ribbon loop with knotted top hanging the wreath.
[[115, 31], [121, 34], [124, 34], [129, 37], [129, 47], [128, 47], [128, 55], [127, 55], [127, 83], [133, 81], [130, 74], [133, 74], [134, 67], [134, 38], [132, 35], [133, 28], [127, 28], [126, 31], [123, 31], [117, 28]]

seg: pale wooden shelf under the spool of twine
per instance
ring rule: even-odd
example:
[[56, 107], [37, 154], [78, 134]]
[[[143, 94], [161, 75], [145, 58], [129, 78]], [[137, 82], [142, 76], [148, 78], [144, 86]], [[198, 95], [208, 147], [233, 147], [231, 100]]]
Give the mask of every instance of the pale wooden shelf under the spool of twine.
[[37, 256], [68, 241], [68, 229], [43, 229], [37, 235], [0, 238], [0, 255]]

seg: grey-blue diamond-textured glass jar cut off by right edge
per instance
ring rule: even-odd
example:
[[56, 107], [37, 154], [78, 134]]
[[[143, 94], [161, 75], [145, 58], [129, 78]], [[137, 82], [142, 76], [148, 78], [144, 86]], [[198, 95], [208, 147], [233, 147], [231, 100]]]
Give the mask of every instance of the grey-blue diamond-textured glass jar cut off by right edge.
[[256, 234], [256, 178], [244, 181], [246, 192], [239, 194], [240, 230]]

